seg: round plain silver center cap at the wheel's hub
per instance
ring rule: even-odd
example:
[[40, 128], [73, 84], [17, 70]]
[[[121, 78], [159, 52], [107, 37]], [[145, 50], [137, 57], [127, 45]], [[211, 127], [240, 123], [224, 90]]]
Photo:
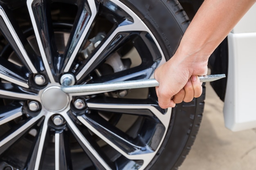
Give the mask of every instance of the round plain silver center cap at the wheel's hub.
[[69, 103], [69, 96], [59, 86], [46, 88], [41, 99], [43, 106], [53, 112], [64, 110]]

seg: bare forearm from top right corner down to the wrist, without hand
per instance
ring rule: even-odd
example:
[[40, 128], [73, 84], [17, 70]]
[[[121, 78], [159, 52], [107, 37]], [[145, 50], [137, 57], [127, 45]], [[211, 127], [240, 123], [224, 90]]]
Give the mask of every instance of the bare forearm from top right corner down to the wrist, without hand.
[[189, 61], [188, 64], [205, 65], [211, 53], [255, 1], [205, 0], [186, 30], [175, 57]]

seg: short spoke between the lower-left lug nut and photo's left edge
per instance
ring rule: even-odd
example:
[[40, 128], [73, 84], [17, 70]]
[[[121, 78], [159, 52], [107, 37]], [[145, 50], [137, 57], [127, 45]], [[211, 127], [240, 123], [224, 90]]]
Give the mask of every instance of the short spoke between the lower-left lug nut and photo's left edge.
[[5, 124], [22, 115], [22, 106], [6, 106], [0, 111], [0, 125]]

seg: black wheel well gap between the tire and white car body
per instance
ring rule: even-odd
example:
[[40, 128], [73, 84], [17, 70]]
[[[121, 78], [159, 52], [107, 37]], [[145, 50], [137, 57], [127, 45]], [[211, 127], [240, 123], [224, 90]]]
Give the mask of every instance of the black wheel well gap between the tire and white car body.
[[[198, 11], [204, 0], [179, 0], [184, 11], [192, 20], [195, 13]], [[211, 69], [211, 74], [226, 74], [228, 73], [228, 45], [227, 38], [216, 48], [209, 58], [208, 67]], [[214, 91], [222, 101], [225, 99], [227, 78], [211, 82]]]

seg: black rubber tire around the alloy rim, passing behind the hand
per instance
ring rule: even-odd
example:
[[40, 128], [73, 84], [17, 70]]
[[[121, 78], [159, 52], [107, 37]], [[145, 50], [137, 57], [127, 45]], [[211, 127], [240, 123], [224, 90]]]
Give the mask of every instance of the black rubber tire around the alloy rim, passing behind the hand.
[[[143, 19], [157, 38], [166, 60], [177, 49], [189, 18], [177, 0], [122, 0]], [[188, 155], [195, 141], [204, 110], [203, 94], [189, 103], [177, 104], [172, 111], [171, 122], [157, 156], [147, 170], [177, 170]]]

